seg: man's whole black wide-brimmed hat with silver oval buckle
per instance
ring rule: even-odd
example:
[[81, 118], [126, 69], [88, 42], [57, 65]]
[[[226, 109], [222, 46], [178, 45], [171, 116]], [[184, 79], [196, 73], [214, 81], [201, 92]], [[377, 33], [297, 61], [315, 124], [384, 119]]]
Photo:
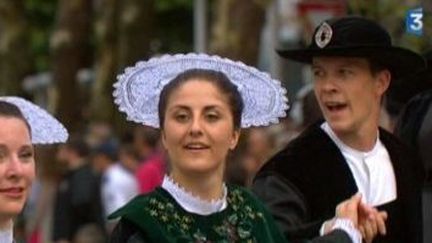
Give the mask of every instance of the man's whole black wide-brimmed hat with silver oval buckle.
[[390, 70], [393, 79], [426, 68], [422, 56], [409, 49], [393, 46], [384, 28], [358, 16], [326, 20], [315, 29], [308, 47], [277, 52], [282, 57], [309, 64], [313, 57], [318, 56], [373, 58]]

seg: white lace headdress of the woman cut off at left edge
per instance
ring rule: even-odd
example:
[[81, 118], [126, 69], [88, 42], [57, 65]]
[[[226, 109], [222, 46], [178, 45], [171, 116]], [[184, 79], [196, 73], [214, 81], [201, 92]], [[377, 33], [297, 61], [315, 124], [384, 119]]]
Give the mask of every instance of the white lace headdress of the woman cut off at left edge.
[[30, 125], [33, 144], [63, 143], [68, 139], [66, 128], [44, 109], [20, 97], [2, 96], [0, 101], [8, 102], [20, 109]]

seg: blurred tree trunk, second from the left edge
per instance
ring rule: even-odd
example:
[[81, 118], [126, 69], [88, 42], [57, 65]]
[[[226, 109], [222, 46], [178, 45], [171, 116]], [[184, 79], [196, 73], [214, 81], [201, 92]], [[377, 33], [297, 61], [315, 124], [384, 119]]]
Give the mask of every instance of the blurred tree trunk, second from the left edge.
[[56, 113], [70, 131], [77, 131], [84, 125], [84, 101], [77, 72], [91, 55], [88, 45], [91, 4], [88, 0], [60, 0], [57, 25], [50, 40], [53, 79], [58, 94]]

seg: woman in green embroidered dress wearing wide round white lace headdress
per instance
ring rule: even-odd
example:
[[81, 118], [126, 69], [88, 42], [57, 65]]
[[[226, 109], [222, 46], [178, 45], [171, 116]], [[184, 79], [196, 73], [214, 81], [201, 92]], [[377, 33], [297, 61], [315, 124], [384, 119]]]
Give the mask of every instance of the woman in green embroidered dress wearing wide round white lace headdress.
[[[161, 187], [110, 216], [121, 217], [111, 242], [285, 242], [261, 202], [224, 183], [241, 128], [278, 122], [288, 108], [285, 93], [266, 73], [205, 54], [127, 68], [115, 84], [115, 102], [128, 120], [160, 129], [171, 170]], [[359, 236], [359, 202], [355, 196], [340, 204], [341, 220], [327, 239]]]

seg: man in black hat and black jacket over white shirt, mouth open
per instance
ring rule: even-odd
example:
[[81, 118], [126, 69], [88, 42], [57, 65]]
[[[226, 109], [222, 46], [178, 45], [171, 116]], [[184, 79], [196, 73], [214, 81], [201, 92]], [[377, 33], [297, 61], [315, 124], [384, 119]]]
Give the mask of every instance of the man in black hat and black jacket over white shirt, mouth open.
[[[386, 30], [362, 17], [325, 21], [309, 47], [279, 54], [312, 65], [325, 118], [271, 158], [254, 181], [288, 239], [319, 235], [338, 202], [360, 192], [364, 203], [388, 213], [385, 236], [373, 242], [421, 242], [421, 165], [378, 120], [390, 83], [424, 69], [424, 59], [392, 46]], [[361, 229], [366, 239], [377, 233], [375, 223]]]

